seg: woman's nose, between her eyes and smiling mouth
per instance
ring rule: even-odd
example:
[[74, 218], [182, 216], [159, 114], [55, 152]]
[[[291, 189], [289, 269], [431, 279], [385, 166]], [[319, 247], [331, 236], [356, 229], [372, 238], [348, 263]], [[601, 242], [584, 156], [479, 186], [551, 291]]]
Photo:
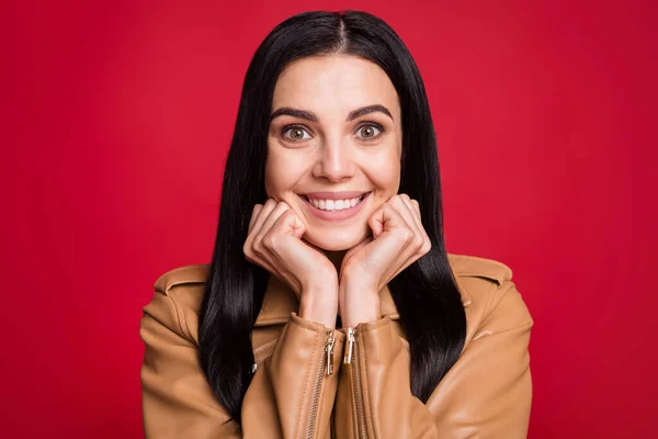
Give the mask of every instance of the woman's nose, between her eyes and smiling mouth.
[[326, 178], [334, 183], [354, 177], [355, 165], [350, 142], [340, 136], [327, 136], [324, 140], [313, 169], [314, 177]]

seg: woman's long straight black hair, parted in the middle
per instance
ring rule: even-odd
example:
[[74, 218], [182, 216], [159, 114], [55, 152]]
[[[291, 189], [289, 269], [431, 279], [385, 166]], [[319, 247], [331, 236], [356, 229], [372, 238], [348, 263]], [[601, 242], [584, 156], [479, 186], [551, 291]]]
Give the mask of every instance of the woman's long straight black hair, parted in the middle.
[[228, 153], [215, 249], [200, 316], [200, 361], [219, 402], [240, 419], [254, 361], [251, 329], [269, 272], [242, 254], [254, 204], [266, 200], [264, 169], [272, 95], [283, 68], [311, 55], [349, 54], [377, 64], [398, 93], [402, 123], [400, 193], [418, 200], [432, 249], [389, 282], [411, 349], [411, 393], [427, 402], [464, 346], [466, 317], [449, 266], [436, 138], [422, 79], [399, 36], [360, 11], [313, 11], [279, 24], [245, 77]]

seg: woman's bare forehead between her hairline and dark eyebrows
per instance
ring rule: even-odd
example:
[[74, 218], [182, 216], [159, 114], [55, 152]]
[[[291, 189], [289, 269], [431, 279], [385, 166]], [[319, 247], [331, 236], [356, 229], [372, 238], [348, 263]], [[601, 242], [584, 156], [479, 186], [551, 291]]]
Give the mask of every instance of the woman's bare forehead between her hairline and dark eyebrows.
[[397, 92], [379, 66], [355, 56], [327, 55], [286, 66], [276, 81], [272, 108], [313, 110], [321, 120], [322, 114], [344, 117], [355, 108], [374, 103], [387, 106], [399, 121]]

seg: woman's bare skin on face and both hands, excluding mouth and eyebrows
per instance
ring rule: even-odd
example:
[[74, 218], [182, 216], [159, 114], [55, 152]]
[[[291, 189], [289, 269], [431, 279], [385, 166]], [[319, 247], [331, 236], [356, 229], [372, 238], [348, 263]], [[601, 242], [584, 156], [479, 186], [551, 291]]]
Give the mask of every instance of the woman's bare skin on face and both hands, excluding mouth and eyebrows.
[[[375, 111], [347, 121], [350, 112]], [[378, 292], [430, 249], [418, 202], [397, 194], [402, 145], [398, 95], [386, 72], [349, 55], [306, 57], [279, 77], [268, 134], [265, 190], [252, 212], [245, 255], [286, 281], [300, 297], [299, 316], [334, 327], [381, 318]], [[290, 126], [294, 125], [294, 126]], [[313, 215], [300, 193], [372, 194], [341, 222]]]

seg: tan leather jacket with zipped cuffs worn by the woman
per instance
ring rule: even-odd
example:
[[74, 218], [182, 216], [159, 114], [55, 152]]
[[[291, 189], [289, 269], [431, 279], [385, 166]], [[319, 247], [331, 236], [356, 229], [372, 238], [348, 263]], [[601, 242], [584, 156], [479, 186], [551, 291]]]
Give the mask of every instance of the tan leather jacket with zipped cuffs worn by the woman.
[[449, 255], [466, 311], [464, 350], [427, 404], [410, 391], [409, 345], [388, 288], [382, 318], [328, 330], [270, 277], [253, 327], [256, 373], [242, 423], [228, 420], [197, 360], [208, 264], [162, 274], [140, 337], [148, 438], [524, 438], [533, 320], [501, 262]]

